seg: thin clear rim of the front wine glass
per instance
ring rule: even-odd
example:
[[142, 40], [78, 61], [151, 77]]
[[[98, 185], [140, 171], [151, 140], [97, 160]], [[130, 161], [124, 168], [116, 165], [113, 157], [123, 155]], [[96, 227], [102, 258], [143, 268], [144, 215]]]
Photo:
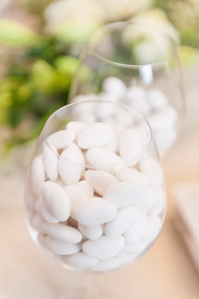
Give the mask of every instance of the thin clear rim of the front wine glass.
[[[142, 120], [147, 124], [147, 126], [148, 126], [148, 128], [149, 128], [149, 131], [150, 131], [150, 141], [148, 142], [146, 148], [144, 148], [143, 151], [142, 151], [139, 155], [137, 155], [137, 156], [134, 157], [134, 160], [140, 159], [140, 158], [141, 158], [141, 157], [148, 151], [148, 149], [150, 149], [150, 147], [151, 147], [151, 145], [152, 145], [152, 141], [154, 141], [154, 143], [155, 143], [155, 145], [156, 145], [155, 139], [153, 138], [153, 132], [152, 132], [152, 129], [151, 129], [151, 126], [150, 126], [149, 122], [144, 118], [144, 116], [143, 116], [142, 114], [140, 114], [140, 113], [139, 113], [138, 111], [136, 111], [135, 109], [133, 109], [133, 108], [127, 106], [127, 105], [124, 105], [124, 104], [122, 104], [122, 103], [118, 103], [118, 102], [114, 102], [114, 101], [97, 100], [97, 99], [96, 99], [96, 100], [84, 100], [84, 101], [79, 101], [79, 102], [75, 102], [75, 103], [70, 103], [70, 104], [67, 104], [67, 105], [65, 105], [65, 106], [63, 106], [63, 107], [57, 109], [55, 112], [53, 112], [53, 113], [48, 117], [48, 119], [46, 120], [46, 122], [45, 122], [45, 124], [44, 124], [44, 127], [43, 127], [43, 138], [44, 138], [44, 142], [45, 142], [45, 144], [48, 146], [48, 148], [49, 148], [51, 151], [53, 151], [53, 152], [57, 155], [57, 157], [59, 157], [60, 155], [57, 154], [57, 153], [51, 148], [51, 145], [47, 142], [47, 138], [48, 138], [48, 137], [46, 137], [46, 133], [45, 133], [45, 131], [46, 131], [46, 126], [47, 126], [48, 122], [50, 121], [50, 119], [53, 118], [58, 112], [60, 112], [60, 111], [62, 111], [62, 110], [64, 110], [64, 109], [66, 109], [66, 108], [71, 108], [71, 107], [73, 107], [73, 106], [77, 106], [77, 105], [84, 104], [84, 103], [111, 103], [111, 104], [114, 104], [114, 105], [123, 107], [123, 108], [125, 108], [126, 110], [133, 111], [135, 114], [137, 114], [137, 115], [139, 116], [140, 119], [142, 119]], [[73, 120], [71, 120], [71, 121], [73, 121]], [[92, 123], [91, 123], [91, 124], [92, 124]], [[89, 123], [88, 123], [88, 125], [89, 125]], [[126, 128], [126, 129], [131, 129], [131, 128]], [[58, 131], [57, 131], [57, 132], [58, 132]], [[159, 151], [158, 151], [158, 149], [157, 149], [157, 146], [156, 146], [156, 151], [157, 151], [157, 154], [158, 154], [158, 158], [160, 159], [160, 153], [159, 153]], [[65, 159], [65, 158], [63, 157], [63, 159]], [[65, 160], [70, 161], [69, 159], [65, 159]], [[82, 163], [78, 163], [78, 162], [76, 162], [76, 164], [81, 164], [81, 165], [82, 165]], [[111, 166], [111, 165], [110, 165], [110, 166]]]

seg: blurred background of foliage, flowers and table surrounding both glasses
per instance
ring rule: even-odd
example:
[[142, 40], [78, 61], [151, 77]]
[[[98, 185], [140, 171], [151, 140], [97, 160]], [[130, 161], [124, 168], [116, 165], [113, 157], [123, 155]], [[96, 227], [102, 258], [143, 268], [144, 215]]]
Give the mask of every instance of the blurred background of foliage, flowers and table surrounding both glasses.
[[168, 214], [158, 242], [101, 283], [120, 298], [199, 298], [199, 0], [0, 0], [0, 299], [61, 298], [85, 279], [60, 269], [31, 241], [25, 176], [46, 119], [68, 103], [84, 45], [96, 28], [121, 20], [153, 25], [176, 40], [187, 115], [163, 159]]

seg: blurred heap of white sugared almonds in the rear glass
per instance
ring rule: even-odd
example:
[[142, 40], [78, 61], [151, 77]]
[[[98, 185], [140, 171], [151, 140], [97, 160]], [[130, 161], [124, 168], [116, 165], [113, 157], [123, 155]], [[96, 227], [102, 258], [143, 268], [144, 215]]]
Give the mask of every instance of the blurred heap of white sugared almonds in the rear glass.
[[[144, 89], [126, 84], [119, 78], [108, 77], [103, 82], [103, 92], [97, 95], [98, 100], [109, 100], [125, 104], [143, 115], [149, 122], [160, 152], [168, 150], [176, 140], [178, 111], [170, 105], [167, 96], [160, 89]], [[93, 95], [80, 95], [73, 102], [90, 100]], [[110, 116], [109, 108], [100, 109], [99, 116], [102, 120]], [[120, 119], [122, 115], [120, 116]], [[80, 120], [94, 121], [91, 111], [85, 111]], [[124, 119], [128, 125], [129, 119]], [[142, 128], [141, 128], [142, 130]]]

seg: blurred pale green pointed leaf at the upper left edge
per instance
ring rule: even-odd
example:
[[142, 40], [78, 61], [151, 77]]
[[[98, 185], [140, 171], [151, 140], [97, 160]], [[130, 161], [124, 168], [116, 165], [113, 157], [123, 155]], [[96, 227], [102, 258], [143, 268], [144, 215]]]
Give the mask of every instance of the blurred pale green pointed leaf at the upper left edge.
[[0, 19], [0, 42], [14, 47], [24, 47], [34, 44], [39, 36], [24, 24]]

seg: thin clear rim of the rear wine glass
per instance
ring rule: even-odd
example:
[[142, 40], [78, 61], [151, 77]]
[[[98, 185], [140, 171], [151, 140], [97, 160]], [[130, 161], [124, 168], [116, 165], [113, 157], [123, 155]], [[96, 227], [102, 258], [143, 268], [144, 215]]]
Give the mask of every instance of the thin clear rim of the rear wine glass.
[[[141, 67], [145, 67], [145, 66], [152, 66], [152, 67], [156, 67], [156, 66], [160, 66], [160, 65], [164, 65], [164, 64], [168, 64], [168, 60], [167, 59], [160, 59], [156, 62], [152, 62], [152, 63], [140, 63], [140, 64], [125, 64], [125, 63], [120, 63], [120, 62], [116, 62], [116, 61], [113, 61], [113, 60], [110, 60], [108, 58], [105, 58], [103, 57], [103, 55], [100, 55], [96, 52], [95, 48], [94, 48], [94, 43], [93, 43], [93, 40], [95, 39], [96, 35], [101, 31], [103, 30], [103, 28], [111, 28], [111, 27], [115, 27], [115, 26], [124, 26], [124, 24], [126, 25], [133, 25], [133, 24], [137, 24], [137, 25], [141, 25], [141, 21], [138, 21], [138, 20], [132, 20], [132, 21], [117, 21], [117, 22], [111, 22], [111, 23], [108, 23], [108, 24], [104, 24], [102, 25], [101, 27], [99, 27], [98, 29], [96, 29], [93, 33], [93, 35], [91, 36], [87, 46], [92, 50], [92, 54], [95, 55], [98, 59], [106, 62], [106, 63], [109, 63], [109, 64], [112, 64], [114, 66], [117, 66], [117, 67], [122, 67], [122, 68], [131, 68], [131, 69], [139, 69]], [[175, 49], [175, 56], [178, 56], [178, 53], [177, 53], [177, 42], [176, 40], [170, 35], [168, 34], [167, 32], [165, 32], [164, 30], [160, 30], [157, 26], [155, 25], [152, 25], [152, 24], [147, 24], [147, 27], [150, 27], [150, 28], [155, 28], [156, 30], [159, 30], [163, 35], [167, 36], [173, 43], [173, 48]]]

